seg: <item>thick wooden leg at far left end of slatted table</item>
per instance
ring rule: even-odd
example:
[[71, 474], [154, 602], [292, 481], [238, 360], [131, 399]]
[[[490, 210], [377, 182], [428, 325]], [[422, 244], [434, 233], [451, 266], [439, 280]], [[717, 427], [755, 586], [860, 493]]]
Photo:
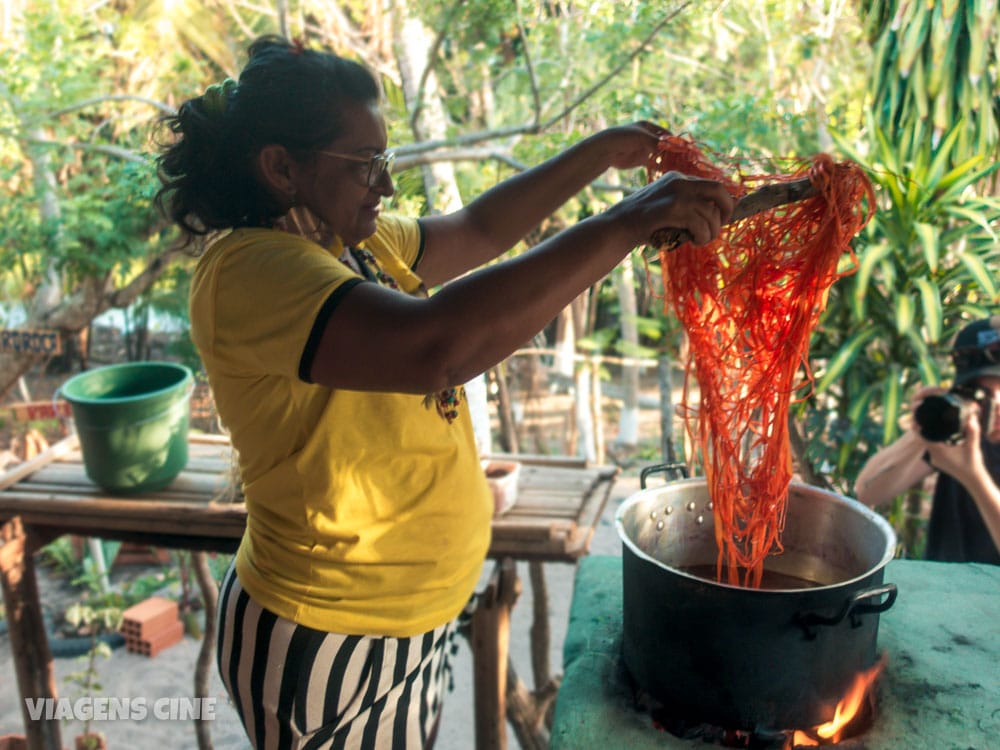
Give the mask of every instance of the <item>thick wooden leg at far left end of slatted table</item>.
[[21, 714], [29, 750], [59, 750], [59, 720], [32, 719], [27, 700], [56, 698], [55, 669], [49, 640], [45, 635], [38, 581], [28, 536], [20, 518], [13, 518], [0, 530], [0, 579], [7, 610], [10, 646], [14, 656], [17, 685], [21, 693]]

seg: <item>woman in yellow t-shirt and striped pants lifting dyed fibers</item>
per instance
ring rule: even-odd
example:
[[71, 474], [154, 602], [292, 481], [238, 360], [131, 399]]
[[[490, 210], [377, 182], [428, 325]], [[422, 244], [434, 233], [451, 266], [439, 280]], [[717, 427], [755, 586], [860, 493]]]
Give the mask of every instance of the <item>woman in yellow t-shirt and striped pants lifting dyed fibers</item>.
[[377, 83], [333, 54], [259, 39], [238, 84], [168, 125], [158, 201], [189, 232], [231, 230], [191, 291], [248, 514], [220, 595], [223, 681], [257, 748], [430, 747], [492, 512], [461, 383], [654, 230], [711, 240], [732, 199], [671, 174], [463, 276], [608, 167], [644, 165], [664, 131], [605, 130], [412, 220], [380, 213], [393, 184]]

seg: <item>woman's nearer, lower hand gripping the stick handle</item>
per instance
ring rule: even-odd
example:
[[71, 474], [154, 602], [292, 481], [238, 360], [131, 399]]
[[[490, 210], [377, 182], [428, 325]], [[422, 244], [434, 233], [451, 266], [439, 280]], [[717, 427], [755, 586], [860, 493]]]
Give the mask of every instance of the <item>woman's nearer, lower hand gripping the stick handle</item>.
[[715, 239], [733, 213], [735, 200], [716, 180], [667, 172], [609, 209], [632, 237], [633, 247], [658, 229], [681, 229], [695, 245]]

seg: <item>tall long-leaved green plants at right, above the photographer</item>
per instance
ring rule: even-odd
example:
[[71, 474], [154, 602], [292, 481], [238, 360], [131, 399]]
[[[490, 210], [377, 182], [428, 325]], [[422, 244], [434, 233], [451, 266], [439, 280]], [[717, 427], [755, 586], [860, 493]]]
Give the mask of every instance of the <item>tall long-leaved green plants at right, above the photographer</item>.
[[898, 436], [908, 393], [942, 380], [957, 328], [1000, 302], [996, 3], [861, 9], [874, 53], [867, 137], [838, 144], [867, 166], [878, 211], [857, 273], [831, 294], [813, 347], [818, 384], [801, 412], [811, 461], [847, 492]]

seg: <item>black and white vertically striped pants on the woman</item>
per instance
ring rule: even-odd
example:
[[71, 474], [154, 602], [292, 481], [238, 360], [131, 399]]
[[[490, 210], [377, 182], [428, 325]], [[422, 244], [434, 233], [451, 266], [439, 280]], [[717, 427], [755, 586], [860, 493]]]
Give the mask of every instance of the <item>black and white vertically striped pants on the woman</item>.
[[455, 629], [413, 638], [313, 630], [261, 608], [230, 566], [216, 653], [256, 750], [423, 750], [437, 729]]

